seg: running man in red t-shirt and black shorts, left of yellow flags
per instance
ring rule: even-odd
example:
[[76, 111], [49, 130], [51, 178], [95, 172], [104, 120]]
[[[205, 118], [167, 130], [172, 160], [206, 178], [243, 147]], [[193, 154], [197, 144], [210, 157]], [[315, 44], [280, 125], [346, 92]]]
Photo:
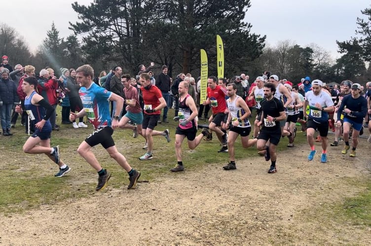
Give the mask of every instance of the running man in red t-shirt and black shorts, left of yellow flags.
[[142, 124], [142, 133], [147, 138], [148, 151], [143, 156], [139, 157], [140, 160], [152, 159], [153, 138], [152, 136], [164, 136], [167, 142], [170, 142], [169, 129], [164, 131], [155, 131], [154, 127], [160, 119], [161, 109], [166, 107], [165, 99], [162, 97], [161, 91], [151, 85], [148, 73], [142, 73], [139, 81], [142, 85], [141, 91], [144, 100], [144, 119]]

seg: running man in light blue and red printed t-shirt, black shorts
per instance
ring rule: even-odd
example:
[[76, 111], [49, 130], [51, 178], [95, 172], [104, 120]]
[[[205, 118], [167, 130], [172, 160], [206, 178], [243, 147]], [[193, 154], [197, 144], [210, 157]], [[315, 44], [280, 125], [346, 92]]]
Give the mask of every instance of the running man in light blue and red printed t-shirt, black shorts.
[[76, 81], [80, 83], [81, 88], [79, 94], [81, 97], [83, 109], [77, 114], [70, 113], [70, 121], [87, 115], [88, 120], [94, 126], [94, 132], [80, 144], [77, 153], [80, 154], [95, 170], [98, 172], [98, 185], [96, 191], [104, 189], [108, 180], [111, 178], [111, 173], [103, 169], [96, 159], [91, 148], [101, 144], [103, 148], [129, 175], [128, 189], [134, 188], [137, 184], [141, 173], [132, 168], [126, 161], [125, 156], [119, 153], [112, 139], [113, 129], [118, 128], [119, 115], [114, 115], [111, 120], [110, 102], [116, 102], [116, 113], [121, 112], [124, 105], [124, 98], [116, 95], [113, 92], [107, 91], [93, 82], [94, 70], [90, 65], [82, 65], [76, 69]]

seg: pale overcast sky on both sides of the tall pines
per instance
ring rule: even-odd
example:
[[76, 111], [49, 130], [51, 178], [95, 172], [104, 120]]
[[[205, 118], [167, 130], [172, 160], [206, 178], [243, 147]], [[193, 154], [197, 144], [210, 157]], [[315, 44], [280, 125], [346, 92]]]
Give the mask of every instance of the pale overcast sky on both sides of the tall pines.
[[[71, 4], [89, 4], [92, 0], [9, 0], [1, 1], [0, 22], [16, 29], [35, 51], [54, 21], [61, 37], [72, 34], [69, 21], [77, 21]], [[336, 53], [336, 40], [355, 36], [357, 17], [371, 7], [370, 0], [251, 0], [245, 20], [252, 32], [266, 35], [266, 43], [290, 39], [304, 47], [316, 43]]]

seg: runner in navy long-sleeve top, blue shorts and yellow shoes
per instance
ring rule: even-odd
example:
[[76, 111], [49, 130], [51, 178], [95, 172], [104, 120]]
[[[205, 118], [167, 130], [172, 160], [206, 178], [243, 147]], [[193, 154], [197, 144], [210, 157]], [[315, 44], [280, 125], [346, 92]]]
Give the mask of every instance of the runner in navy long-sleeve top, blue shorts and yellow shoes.
[[[367, 99], [361, 95], [361, 85], [354, 83], [351, 87], [351, 94], [343, 97], [338, 112], [344, 112], [343, 139], [345, 142], [342, 154], [347, 154], [349, 146], [349, 130], [353, 126], [352, 133], [352, 151], [350, 157], [356, 157], [356, 148], [358, 146], [358, 136], [362, 129], [363, 118], [367, 114]], [[337, 114], [336, 125], [341, 125], [340, 114]]]

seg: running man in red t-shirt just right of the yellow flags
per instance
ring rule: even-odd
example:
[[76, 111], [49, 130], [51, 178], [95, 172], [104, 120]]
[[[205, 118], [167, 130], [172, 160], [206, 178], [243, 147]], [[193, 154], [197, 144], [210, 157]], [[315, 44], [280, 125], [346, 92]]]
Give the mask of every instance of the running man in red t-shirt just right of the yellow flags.
[[[203, 102], [203, 105], [211, 104], [213, 110], [213, 121], [209, 124], [209, 129], [215, 131], [219, 141], [222, 143], [222, 149], [218, 152], [227, 152], [227, 135], [221, 129], [222, 122], [224, 121], [225, 114], [228, 113], [228, 109], [225, 103], [226, 91], [222, 87], [218, 86], [218, 79], [215, 76], [210, 76], [207, 79], [207, 100]], [[206, 130], [206, 129], [205, 129]], [[206, 133], [206, 131], [203, 132]], [[207, 133], [209, 133], [207, 131]], [[210, 133], [206, 137], [210, 138]]]

